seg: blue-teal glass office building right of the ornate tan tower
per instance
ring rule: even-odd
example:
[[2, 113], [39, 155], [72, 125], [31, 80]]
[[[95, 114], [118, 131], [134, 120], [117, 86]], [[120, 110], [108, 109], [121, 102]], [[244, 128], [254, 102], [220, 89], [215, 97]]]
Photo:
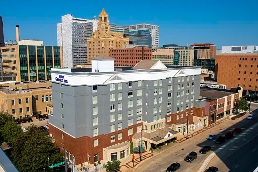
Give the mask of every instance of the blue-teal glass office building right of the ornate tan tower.
[[124, 34], [124, 37], [129, 38], [132, 45], [148, 45], [148, 48], [152, 47], [152, 38], [149, 29], [131, 30], [128, 31], [128, 34]]

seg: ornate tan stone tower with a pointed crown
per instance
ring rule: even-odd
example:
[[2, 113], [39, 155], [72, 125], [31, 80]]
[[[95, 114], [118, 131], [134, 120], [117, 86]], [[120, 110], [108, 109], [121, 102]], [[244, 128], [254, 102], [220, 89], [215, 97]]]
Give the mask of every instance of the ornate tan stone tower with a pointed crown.
[[93, 33], [92, 38], [87, 39], [88, 64], [91, 64], [93, 57], [109, 56], [110, 49], [124, 48], [129, 44], [129, 38], [124, 38], [123, 33], [110, 31], [108, 15], [104, 8], [98, 17], [97, 31]]

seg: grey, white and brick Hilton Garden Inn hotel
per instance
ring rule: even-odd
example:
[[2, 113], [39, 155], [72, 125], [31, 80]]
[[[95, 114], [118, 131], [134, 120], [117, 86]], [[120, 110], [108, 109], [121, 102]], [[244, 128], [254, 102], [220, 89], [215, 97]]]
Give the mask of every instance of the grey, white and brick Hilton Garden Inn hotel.
[[131, 156], [131, 141], [149, 151], [182, 137], [187, 126], [208, 125], [200, 67], [154, 60], [114, 67], [113, 58], [101, 55], [92, 68], [51, 72], [49, 134], [75, 165], [123, 160]]

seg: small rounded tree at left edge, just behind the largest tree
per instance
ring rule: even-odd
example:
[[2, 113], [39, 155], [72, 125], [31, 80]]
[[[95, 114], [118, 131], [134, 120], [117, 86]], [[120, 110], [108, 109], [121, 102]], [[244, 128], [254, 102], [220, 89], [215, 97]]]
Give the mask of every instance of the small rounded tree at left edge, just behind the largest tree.
[[21, 126], [14, 121], [7, 121], [1, 130], [4, 142], [13, 143], [17, 136], [22, 132]]

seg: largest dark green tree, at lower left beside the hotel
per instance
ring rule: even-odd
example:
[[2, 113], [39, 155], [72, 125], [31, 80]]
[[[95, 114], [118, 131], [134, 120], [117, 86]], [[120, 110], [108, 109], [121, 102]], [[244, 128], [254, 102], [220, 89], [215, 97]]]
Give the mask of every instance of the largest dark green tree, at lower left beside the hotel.
[[11, 159], [20, 172], [43, 172], [49, 164], [64, 161], [63, 154], [36, 126], [31, 125], [13, 142]]

